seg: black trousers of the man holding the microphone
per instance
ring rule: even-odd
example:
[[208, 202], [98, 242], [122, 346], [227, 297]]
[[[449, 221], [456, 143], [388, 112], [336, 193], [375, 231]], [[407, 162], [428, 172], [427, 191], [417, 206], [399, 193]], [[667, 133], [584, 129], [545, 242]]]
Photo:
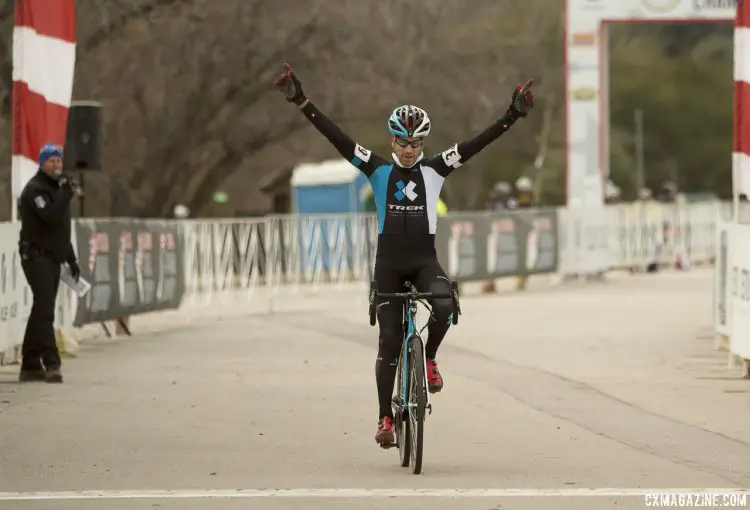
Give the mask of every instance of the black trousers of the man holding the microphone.
[[47, 370], [60, 368], [60, 353], [55, 342], [55, 300], [60, 285], [60, 264], [43, 255], [31, 255], [21, 262], [31, 287], [33, 304], [26, 324], [21, 349], [21, 368]]

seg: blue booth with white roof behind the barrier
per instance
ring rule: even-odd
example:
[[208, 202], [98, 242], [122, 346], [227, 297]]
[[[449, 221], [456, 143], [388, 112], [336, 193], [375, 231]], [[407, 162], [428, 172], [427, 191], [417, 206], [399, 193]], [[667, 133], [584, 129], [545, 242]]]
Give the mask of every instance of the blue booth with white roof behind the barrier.
[[292, 172], [292, 207], [297, 214], [362, 212], [367, 177], [345, 159], [307, 163]]

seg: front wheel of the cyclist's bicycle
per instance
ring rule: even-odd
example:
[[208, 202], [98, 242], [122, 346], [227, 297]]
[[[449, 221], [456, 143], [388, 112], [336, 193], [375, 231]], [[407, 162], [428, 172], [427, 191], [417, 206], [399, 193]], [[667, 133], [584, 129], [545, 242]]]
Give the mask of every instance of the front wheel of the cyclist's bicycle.
[[422, 339], [415, 335], [409, 343], [409, 446], [412, 473], [422, 472], [424, 452], [424, 419], [427, 408], [427, 384]]

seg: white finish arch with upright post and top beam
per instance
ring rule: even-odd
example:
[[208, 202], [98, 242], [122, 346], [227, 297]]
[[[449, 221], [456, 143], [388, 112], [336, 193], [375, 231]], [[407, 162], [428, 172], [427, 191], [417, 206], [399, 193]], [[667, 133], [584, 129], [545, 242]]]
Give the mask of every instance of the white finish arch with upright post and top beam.
[[[566, 203], [599, 208], [609, 176], [608, 26], [734, 22], [748, 0], [566, 0]], [[750, 57], [745, 57], [750, 58]]]

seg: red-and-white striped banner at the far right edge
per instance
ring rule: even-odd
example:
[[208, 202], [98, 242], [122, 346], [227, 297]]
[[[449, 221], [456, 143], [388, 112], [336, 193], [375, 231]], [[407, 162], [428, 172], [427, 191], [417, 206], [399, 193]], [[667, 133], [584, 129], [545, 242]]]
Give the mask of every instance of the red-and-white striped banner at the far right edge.
[[750, 0], [737, 2], [734, 29], [734, 145], [732, 188], [734, 222], [739, 222], [739, 195], [750, 195]]

